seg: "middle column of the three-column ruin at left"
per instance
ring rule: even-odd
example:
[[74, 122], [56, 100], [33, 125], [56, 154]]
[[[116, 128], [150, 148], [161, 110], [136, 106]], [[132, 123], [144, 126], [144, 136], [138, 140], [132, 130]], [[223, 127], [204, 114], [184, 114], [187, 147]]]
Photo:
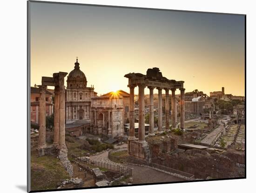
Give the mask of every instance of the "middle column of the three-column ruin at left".
[[60, 87], [54, 88], [54, 145], [59, 146]]

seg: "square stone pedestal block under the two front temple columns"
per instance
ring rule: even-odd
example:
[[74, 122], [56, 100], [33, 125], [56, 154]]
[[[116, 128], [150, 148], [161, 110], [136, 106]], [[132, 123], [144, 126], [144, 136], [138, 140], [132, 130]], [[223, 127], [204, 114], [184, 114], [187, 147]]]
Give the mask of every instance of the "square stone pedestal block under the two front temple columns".
[[141, 143], [137, 140], [128, 140], [128, 153], [129, 157], [133, 160], [137, 159], [138, 162], [151, 162], [148, 142]]

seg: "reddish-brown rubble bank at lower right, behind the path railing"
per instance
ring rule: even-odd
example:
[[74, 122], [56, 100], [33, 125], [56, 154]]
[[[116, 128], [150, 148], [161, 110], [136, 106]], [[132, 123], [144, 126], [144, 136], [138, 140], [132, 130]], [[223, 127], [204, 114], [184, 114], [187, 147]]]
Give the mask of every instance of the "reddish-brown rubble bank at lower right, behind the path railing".
[[155, 151], [152, 151], [152, 162], [194, 174], [198, 179], [242, 177], [243, 173], [236, 170], [233, 156], [235, 155], [225, 153], [210, 155], [204, 150], [197, 149], [175, 155], [155, 154]]

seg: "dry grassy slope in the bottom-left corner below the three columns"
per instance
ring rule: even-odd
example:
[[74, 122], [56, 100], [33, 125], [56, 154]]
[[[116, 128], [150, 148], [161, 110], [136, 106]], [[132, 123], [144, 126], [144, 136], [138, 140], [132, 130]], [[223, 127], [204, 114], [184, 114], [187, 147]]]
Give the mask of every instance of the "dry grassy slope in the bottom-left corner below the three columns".
[[56, 189], [58, 183], [69, 178], [60, 160], [52, 156], [31, 156], [31, 189]]

